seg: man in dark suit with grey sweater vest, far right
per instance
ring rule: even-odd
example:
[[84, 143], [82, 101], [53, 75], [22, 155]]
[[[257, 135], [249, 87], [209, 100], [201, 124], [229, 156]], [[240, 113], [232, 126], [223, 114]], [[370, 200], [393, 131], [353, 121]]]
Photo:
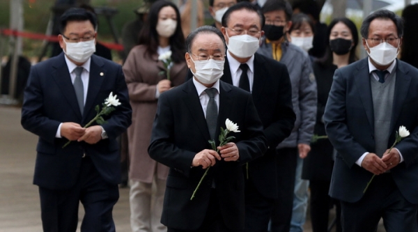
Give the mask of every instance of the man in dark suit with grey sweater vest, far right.
[[[391, 11], [366, 17], [360, 32], [369, 57], [336, 70], [325, 107], [337, 151], [330, 196], [343, 231], [376, 231], [381, 217], [388, 232], [418, 231], [418, 70], [396, 59], [403, 25]], [[389, 152], [400, 126], [411, 133]]]

